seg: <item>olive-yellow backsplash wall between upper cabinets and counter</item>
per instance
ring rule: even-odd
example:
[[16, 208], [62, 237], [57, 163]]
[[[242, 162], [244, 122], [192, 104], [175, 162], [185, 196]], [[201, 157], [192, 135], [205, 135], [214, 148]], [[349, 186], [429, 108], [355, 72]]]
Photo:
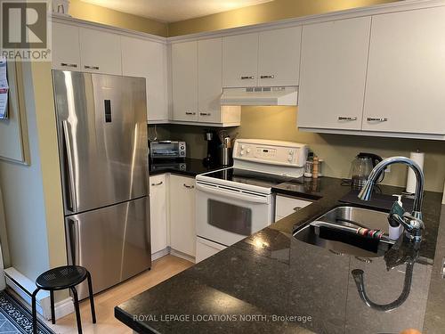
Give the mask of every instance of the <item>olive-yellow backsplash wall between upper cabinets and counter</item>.
[[[230, 128], [239, 138], [260, 138], [307, 143], [312, 151], [324, 159], [323, 174], [349, 177], [351, 161], [360, 151], [376, 153], [383, 158], [410, 151], [425, 152], [425, 190], [443, 191], [445, 180], [445, 143], [402, 138], [381, 138], [344, 134], [314, 134], [296, 128], [298, 109], [295, 107], [243, 107], [241, 126]], [[157, 126], [159, 139], [182, 139], [187, 142], [188, 156], [201, 159], [206, 155], [204, 126]], [[154, 126], [149, 126], [150, 134]], [[392, 166], [384, 184], [405, 186], [407, 167]]]

